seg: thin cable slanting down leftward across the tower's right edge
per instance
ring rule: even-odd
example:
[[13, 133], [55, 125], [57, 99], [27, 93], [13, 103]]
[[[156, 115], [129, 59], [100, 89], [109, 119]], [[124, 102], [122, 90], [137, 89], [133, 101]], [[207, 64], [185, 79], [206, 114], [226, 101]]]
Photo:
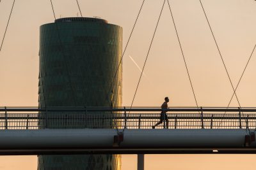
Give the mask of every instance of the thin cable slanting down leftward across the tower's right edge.
[[[120, 65], [121, 65], [121, 63], [122, 63], [122, 60], [123, 60], [123, 58], [124, 58], [124, 54], [125, 54], [125, 52], [126, 52], [127, 46], [129, 45], [129, 42], [130, 42], [132, 33], [133, 33], [134, 28], [135, 28], [135, 26], [136, 26], [136, 24], [137, 24], [138, 18], [140, 17], [140, 13], [141, 13], [141, 10], [142, 10], [142, 8], [143, 8], [143, 4], [144, 4], [144, 3], [145, 3], [145, 0], [143, 0], [142, 4], [141, 4], [141, 6], [140, 6], [140, 11], [139, 11], [139, 13], [138, 13], [138, 15], [137, 15], [137, 17], [136, 17], [136, 20], [135, 20], [134, 25], [133, 25], [133, 27], [132, 27], [132, 31], [131, 31], [131, 33], [130, 33], [130, 35], [129, 35], [129, 38], [128, 38], [128, 41], [127, 41], [127, 43], [126, 43], [126, 45], [125, 45], [124, 52], [123, 52], [123, 54], [122, 54], [121, 60], [120, 60], [120, 62], [118, 63], [118, 67], [117, 67], [117, 69], [116, 69], [115, 75], [114, 75], [114, 77], [113, 77], [113, 80], [111, 81], [111, 85], [110, 85], [110, 87], [109, 87], [109, 90], [108, 90], [108, 92], [106, 93], [106, 98], [107, 98], [107, 99], [108, 99], [109, 92], [111, 92], [113, 83], [114, 83], [114, 81], [115, 81], [116, 74], [118, 73], [118, 70], [119, 70]], [[110, 102], [109, 102], [109, 99], [108, 99], [108, 103], [109, 103], [109, 106], [111, 106], [111, 104], [110, 104]]]

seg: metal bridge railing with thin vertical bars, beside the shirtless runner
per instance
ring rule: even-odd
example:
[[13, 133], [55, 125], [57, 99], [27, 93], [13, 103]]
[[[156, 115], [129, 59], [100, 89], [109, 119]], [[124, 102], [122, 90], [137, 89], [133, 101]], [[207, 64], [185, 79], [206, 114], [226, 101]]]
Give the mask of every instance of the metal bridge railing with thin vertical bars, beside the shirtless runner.
[[[0, 129], [152, 129], [161, 108], [0, 108]], [[256, 108], [168, 108], [156, 129], [255, 129]]]

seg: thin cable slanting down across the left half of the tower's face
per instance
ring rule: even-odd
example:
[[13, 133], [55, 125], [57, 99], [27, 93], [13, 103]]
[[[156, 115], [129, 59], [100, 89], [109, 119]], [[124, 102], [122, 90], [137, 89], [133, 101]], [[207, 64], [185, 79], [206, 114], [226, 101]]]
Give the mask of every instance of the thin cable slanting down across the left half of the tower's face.
[[[54, 15], [54, 19], [56, 20], [56, 15], [55, 15], [55, 12], [54, 12], [52, 0], [50, 0], [50, 1], [51, 1], [51, 6], [52, 6], [52, 13]], [[66, 67], [67, 73], [68, 73], [68, 81], [69, 81], [69, 84], [70, 84], [70, 89], [72, 90], [71, 94], [72, 94], [72, 97], [74, 99], [74, 103], [77, 104], [76, 97], [74, 97], [74, 89], [73, 89], [73, 86], [72, 86], [72, 83], [71, 83], [71, 80], [70, 80], [70, 74], [69, 74], [69, 71], [68, 71], [67, 61], [65, 59], [65, 53], [64, 53], [64, 50], [63, 50], [63, 44], [61, 43], [61, 37], [60, 37], [60, 31], [59, 31], [58, 23], [56, 23], [55, 25], [56, 25], [56, 30], [57, 30], [57, 33], [58, 33], [58, 39], [60, 41], [61, 53], [63, 55], [64, 64], [65, 64], [65, 67]]]

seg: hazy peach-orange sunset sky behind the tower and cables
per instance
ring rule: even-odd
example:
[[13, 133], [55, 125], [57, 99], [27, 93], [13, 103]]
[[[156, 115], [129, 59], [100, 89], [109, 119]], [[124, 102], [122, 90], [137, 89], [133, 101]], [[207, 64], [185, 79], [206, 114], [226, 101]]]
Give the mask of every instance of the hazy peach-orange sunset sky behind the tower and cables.
[[[56, 17], [79, 15], [76, 0], [53, 0]], [[12, 0], [0, 1], [0, 40]], [[101, 17], [124, 29], [124, 46], [142, 0], [79, 0], [84, 17]], [[199, 0], [171, 0], [174, 19], [199, 106], [227, 106], [232, 87]], [[237, 84], [256, 43], [256, 1], [202, 0], [223, 59]], [[130, 106], [163, 0], [146, 0], [124, 55], [123, 106]], [[54, 22], [46, 0], [17, 0], [0, 52], [0, 106], [38, 105], [39, 27]], [[134, 61], [131, 60], [132, 59]], [[237, 89], [241, 106], [256, 106], [256, 54]], [[134, 106], [195, 106], [193, 93], [167, 4], [159, 22]], [[236, 100], [232, 106], [238, 106]], [[184, 163], [186, 162], [186, 163]], [[136, 156], [123, 155], [123, 170]], [[256, 166], [255, 155], [147, 155], [146, 169], [242, 169]], [[0, 169], [36, 169], [36, 156], [0, 157]]]

